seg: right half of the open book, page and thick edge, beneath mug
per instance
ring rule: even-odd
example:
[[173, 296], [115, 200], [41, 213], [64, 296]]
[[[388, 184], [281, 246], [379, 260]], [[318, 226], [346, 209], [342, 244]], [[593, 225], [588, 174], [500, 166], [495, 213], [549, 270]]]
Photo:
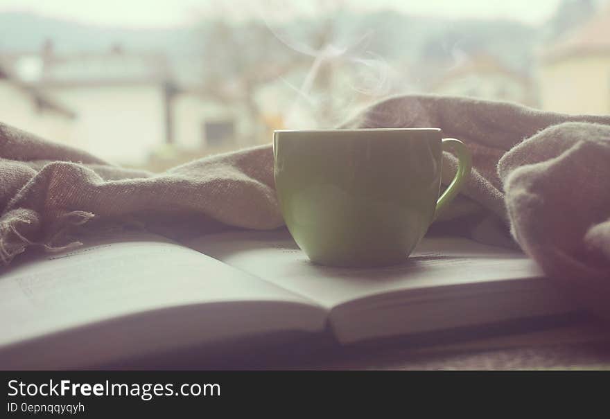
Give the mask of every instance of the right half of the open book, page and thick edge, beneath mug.
[[189, 245], [317, 301], [342, 344], [575, 310], [520, 251], [464, 238], [424, 238], [400, 265], [313, 264], [287, 231], [233, 232]]

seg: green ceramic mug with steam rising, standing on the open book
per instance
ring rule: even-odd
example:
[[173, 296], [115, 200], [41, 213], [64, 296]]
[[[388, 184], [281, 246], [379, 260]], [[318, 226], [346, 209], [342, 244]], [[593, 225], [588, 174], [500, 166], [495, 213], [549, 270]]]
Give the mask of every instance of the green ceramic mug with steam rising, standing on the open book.
[[[460, 164], [439, 197], [442, 150]], [[286, 226], [321, 265], [403, 262], [471, 170], [464, 144], [437, 128], [276, 131], [275, 186]]]

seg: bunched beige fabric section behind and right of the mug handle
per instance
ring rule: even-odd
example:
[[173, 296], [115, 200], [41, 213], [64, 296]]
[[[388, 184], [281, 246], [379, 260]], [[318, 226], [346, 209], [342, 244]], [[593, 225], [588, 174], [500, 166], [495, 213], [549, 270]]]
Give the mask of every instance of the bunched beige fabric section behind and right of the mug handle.
[[[610, 318], [610, 116], [403, 96], [345, 126], [440, 127], [467, 143], [475, 169], [464, 195], [503, 220], [548, 276]], [[445, 157], [448, 183], [456, 160]], [[478, 218], [473, 233], [485, 235], [489, 217]]]

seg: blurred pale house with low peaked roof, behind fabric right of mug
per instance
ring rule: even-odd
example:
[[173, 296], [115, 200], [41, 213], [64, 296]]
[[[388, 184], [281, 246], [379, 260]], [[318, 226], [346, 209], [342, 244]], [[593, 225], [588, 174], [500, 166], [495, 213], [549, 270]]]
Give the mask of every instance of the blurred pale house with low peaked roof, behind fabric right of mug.
[[533, 92], [530, 78], [485, 54], [464, 59], [430, 86], [430, 93], [505, 100], [529, 106], [537, 102]]

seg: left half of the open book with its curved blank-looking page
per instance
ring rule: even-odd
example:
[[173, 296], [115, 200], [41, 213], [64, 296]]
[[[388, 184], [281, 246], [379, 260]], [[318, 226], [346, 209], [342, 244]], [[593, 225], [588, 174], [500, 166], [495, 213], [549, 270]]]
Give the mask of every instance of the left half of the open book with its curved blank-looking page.
[[[200, 319], [193, 318], [191, 310], [189, 318], [177, 318], [163, 329], [162, 324], [180, 312], [177, 307], [199, 306], [207, 307]], [[73, 251], [26, 258], [3, 269], [0, 362], [6, 361], [1, 350], [11, 344], [146, 312], [165, 314], [130, 326], [133, 339], [117, 332], [109, 338], [122, 340], [114, 348], [105, 341], [89, 341], [87, 356], [96, 351], [110, 356], [130, 345], [138, 353], [169, 341], [319, 330], [325, 320], [315, 303], [214, 258], [155, 235], [121, 235]], [[108, 338], [119, 329], [98, 335]]]

